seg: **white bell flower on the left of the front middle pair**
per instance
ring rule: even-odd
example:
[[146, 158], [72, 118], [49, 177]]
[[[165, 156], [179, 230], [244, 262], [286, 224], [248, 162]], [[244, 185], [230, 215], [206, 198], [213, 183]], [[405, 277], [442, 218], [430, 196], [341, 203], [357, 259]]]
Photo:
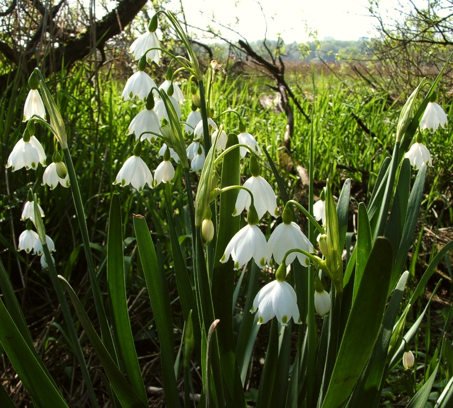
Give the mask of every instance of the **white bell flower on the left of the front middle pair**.
[[235, 269], [242, 268], [252, 258], [260, 268], [266, 265], [269, 249], [266, 238], [257, 225], [247, 224], [241, 228], [226, 245], [220, 262], [226, 262], [230, 255], [235, 261]]

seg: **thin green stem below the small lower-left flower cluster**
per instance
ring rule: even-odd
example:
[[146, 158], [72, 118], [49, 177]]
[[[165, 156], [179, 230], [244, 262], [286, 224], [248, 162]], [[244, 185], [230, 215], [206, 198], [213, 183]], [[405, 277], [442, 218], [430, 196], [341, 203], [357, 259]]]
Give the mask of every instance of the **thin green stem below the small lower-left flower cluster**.
[[75, 332], [74, 323], [72, 320], [71, 313], [69, 311], [69, 306], [67, 304], [66, 297], [63, 293], [63, 288], [61, 287], [61, 282], [57, 278], [57, 271], [55, 269], [55, 265], [53, 264], [52, 256], [50, 255], [49, 248], [47, 246], [47, 242], [44, 239], [44, 242], [41, 240], [42, 250], [44, 252], [44, 256], [49, 267], [49, 274], [50, 279], [52, 280], [53, 287], [55, 288], [55, 292], [57, 294], [58, 302], [61, 306], [61, 311], [63, 312], [63, 318], [66, 322], [67, 329], [69, 330], [69, 335], [72, 341], [72, 349], [77, 356], [77, 360], [80, 364], [80, 369], [82, 370], [82, 375], [84, 377], [85, 385], [87, 386], [88, 395], [90, 397], [91, 405], [94, 407], [99, 407], [98, 401], [96, 400], [96, 394], [93, 389], [93, 384], [91, 382], [90, 374], [88, 373], [87, 363], [84, 359], [84, 354], [82, 352], [82, 347], [80, 346], [79, 337]]

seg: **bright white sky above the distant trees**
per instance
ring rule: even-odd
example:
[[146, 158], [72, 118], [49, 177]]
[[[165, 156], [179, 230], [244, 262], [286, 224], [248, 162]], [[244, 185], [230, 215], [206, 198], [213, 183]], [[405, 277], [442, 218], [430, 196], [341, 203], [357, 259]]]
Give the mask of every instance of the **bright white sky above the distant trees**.
[[[367, 10], [368, 0], [172, 0], [171, 8], [180, 9], [181, 2], [189, 25], [211, 25], [233, 41], [240, 37], [224, 27], [234, 28], [248, 41], [263, 39], [266, 23], [267, 38], [276, 39], [280, 34], [286, 43], [309, 40], [306, 27], [317, 30], [321, 40], [358, 40], [376, 35], [376, 21]], [[426, 4], [426, 0], [414, 3]], [[396, 0], [380, 0], [380, 4], [386, 15], [398, 16]]]

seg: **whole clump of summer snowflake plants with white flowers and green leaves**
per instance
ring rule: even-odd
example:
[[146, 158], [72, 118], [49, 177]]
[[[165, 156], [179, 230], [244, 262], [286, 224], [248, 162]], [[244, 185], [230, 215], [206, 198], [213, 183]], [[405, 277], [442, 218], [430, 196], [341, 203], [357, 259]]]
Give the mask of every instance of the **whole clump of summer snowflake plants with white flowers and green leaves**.
[[[159, 18], [168, 19], [185, 45], [187, 57], [173, 55], [160, 46], [156, 36]], [[288, 196], [272, 158], [247, 132], [247, 118], [235, 110], [216, 111], [212, 83], [215, 76], [224, 75], [221, 64], [212, 61], [207, 71], [201, 72], [190, 41], [172, 13], [158, 12], [129, 52], [137, 61], [137, 72], [124, 87], [122, 103], [133, 100], [142, 109], [126, 131], [134, 140], [132, 154], [112, 182], [118, 188], [130, 189], [130, 194], [160, 189], [165, 196], [168, 250], [185, 321], [181, 338], [175, 339], [171, 311], [175, 299], [170, 298], [165, 268], [159, 261], [148, 220], [133, 215], [133, 226], [159, 336], [166, 406], [246, 407], [249, 403], [260, 408], [378, 407], [390, 371], [395, 367], [413, 370], [417, 366], [411, 345], [429, 303], [410, 328], [406, 316], [437, 263], [453, 247], [449, 242], [432, 258], [407, 307], [401, 310], [408, 279], [404, 266], [421, 207], [426, 172], [432, 165], [423, 143], [429, 145], [429, 132], [447, 124], [442, 108], [435, 103], [434, 92], [443, 70], [432, 84], [422, 81], [402, 108], [392, 157], [384, 161], [370, 201], [358, 204], [357, 228], [352, 233], [347, 231], [349, 180], [344, 182], [337, 202], [328, 181], [320, 192], [320, 200], [314, 203], [316, 127], [312, 126], [309, 140], [309, 200], [308, 208], [304, 208]], [[171, 62], [158, 87], [146, 71], [149, 64], [160, 63], [162, 53]], [[186, 95], [177, 85], [177, 81], [184, 81], [182, 78], [189, 78], [182, 87], [187, 90]], [[107, 300], [100, 290], [91, 253], [64, 120], [38, 69], [31, 75], [29, 85], [25, 130], [8, 159], [8, 167], [16, 171], [23, 167], [36, 169], [39, 163], [46, 166], [45, 153], [35, 137], [35, 125], [53, 135], [54, 154], [44, 172], [43, 184], [51, 189], [58, 184], [58, 188], [71, 189], [99, 327], [93, 326], [70, 283], [57, 275], [51, 255], [54, 244], [46, 235], [42, 220], [45, 203], [41, 203], [41, 208], [37, 193], [32, 190], [22, 214], [26, 229], [20, 236], [19, 250], [42, 254], [41, 263], [48, 268], [63, 311], [69, 332], [67, 341], [87, 387], [87, 406], [97, 407], [99, 402], [87, 356], [79, 343], [79, 326], [74, 325], [63, 289], [101, 362], [111, 406], [146, 407], [148, 397], [126, 301], [120, 200], [118, 195], [111, 199]], [[181, 105], [187, 98], [191, 99], [191, 112], [182, 117]], [[235, 128], [227, 129], [222, 124], [226, 115], [237, 120]], [[163, 157], [154, 176], [142, 158], [144, 150]], [[251, 174], [242, 185], [241, 166], [249, 168]], [[277, 194], [261, 176], [263, 166], [272, 169]], [[188, 258], [180, 245], [172, 207], [176, 174], [184, 178], [190, 218], [186, 232], [192, 251]], [[296, 222], [300, 215], [307, 220], [303, 226], [306, 234]], [[275, 220], [269, 237], [260, 228], [263, 217]], [[238, 270], [238, 285], [247, 274], [248, 287], [239, 331], [234, 332]], [[269, 283], [262, 286], [260, 276], [266, 276]], [[0, 286], [3, 349], [36, 406], [67, 407], [63, 393], [35, 350], [3, 265]], [[315, 321], [316, 313], [323, 317], [321, 331]], [[445, 328], [451, 317], [450, 313]], [[263, 324], [269, 325], [269, 339], [259, 389], [257, 395], [247, 394], [246, 398], [244, 389], [252, 351]], [[426, 380], [408, 407], [425, 406], [436, 376], [437, 381], [441, 377], [443, 385], [431, 402], [435, 407], [451, 406], [453, 373], [445, 368], [447, 348], [451, 350], [451, 345], [441, 338], [429, 362]], [[194, 367], [202, 374], [200, 388], [195, 388]], [[0, 406], [15, 406], [3, 387], [0, 391]]]

